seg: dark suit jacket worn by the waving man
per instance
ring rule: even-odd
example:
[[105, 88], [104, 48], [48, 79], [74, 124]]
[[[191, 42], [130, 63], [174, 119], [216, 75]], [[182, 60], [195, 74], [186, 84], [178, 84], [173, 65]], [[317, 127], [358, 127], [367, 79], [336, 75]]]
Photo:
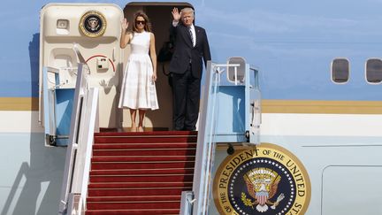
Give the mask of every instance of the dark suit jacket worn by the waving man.
[[196, 44], [193, 47], [188, 28], [183, 24], [171, 27], [175, 36], [175, 50], [170, 62], [170, 73], [185, 73], [191, 62], [192, 74], [195, 78], [202, 77], [202, 60], [204, 65], [210, 60], [210, 45], [204, 28], [195, 26]]

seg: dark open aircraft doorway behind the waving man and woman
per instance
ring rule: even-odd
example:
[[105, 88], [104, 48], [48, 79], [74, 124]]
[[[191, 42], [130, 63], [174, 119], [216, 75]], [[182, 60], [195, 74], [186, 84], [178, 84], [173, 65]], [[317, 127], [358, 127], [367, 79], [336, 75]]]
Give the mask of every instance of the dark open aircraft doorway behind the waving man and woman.
[[[132, 31], [132, 23], [134, 23], [134, 13], [141, 10], [145, 12], [150, 19], [152, 31], [156, 37], [157, 54], [162, 48], [164, 42], [169, 41], [169, 29], [172, 24], [172, 8], [178, 7], [180, 10], [184, 7], [192, 7], [188, 3], [129, 3], [124, 8], [124, 15], [129, 22], [128, 31]], [[126, 48], [124, 55], [124, 72], [126, 61], [130, 53], [130, 49]], [[147, 111], [144, 119], [144, 127], [146, 131], [150, 130], [171, 130], [172, 129], [172, 88], [170, 87], [168, 76], [169, 62], [157, 63], [157, 98], [159, 109], [156, 111]], [[123, 77], [123, 76], [119, 76]], [[122, 127], [131, 127], [131, 119], [128, 110], [123, 111]]]

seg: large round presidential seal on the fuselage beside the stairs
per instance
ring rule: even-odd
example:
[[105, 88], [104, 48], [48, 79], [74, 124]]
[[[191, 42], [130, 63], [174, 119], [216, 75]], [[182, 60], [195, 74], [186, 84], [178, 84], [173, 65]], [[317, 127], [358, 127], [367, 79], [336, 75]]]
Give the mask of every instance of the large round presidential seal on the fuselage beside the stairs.
[[291, 152], [262, 143], [225, 158], [215, 175], [213, 196], [220, 214], [304, 214], [309, 175]]

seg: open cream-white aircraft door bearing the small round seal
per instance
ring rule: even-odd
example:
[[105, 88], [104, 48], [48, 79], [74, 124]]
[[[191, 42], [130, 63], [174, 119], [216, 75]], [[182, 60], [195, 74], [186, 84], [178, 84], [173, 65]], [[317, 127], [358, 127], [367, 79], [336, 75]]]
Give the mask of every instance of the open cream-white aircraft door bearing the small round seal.
[[39, 120], [47, 144], [65, 145], [77, 76], [74, 43], [88, 66], [90, 88], [99, 88], [99, 127], [120, 127], [118, 112], [123, 12], [116, 4], [47, 4], [40, 22]]

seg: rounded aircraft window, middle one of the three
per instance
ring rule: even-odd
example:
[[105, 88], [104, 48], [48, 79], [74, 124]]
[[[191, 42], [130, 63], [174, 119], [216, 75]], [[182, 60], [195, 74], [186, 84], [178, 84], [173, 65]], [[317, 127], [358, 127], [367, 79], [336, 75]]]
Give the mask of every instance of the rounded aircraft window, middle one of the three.
[[332, 60], [332, 81], [346, 83], [349, 79], [349, 62], [347, 58], [335, 58]]

